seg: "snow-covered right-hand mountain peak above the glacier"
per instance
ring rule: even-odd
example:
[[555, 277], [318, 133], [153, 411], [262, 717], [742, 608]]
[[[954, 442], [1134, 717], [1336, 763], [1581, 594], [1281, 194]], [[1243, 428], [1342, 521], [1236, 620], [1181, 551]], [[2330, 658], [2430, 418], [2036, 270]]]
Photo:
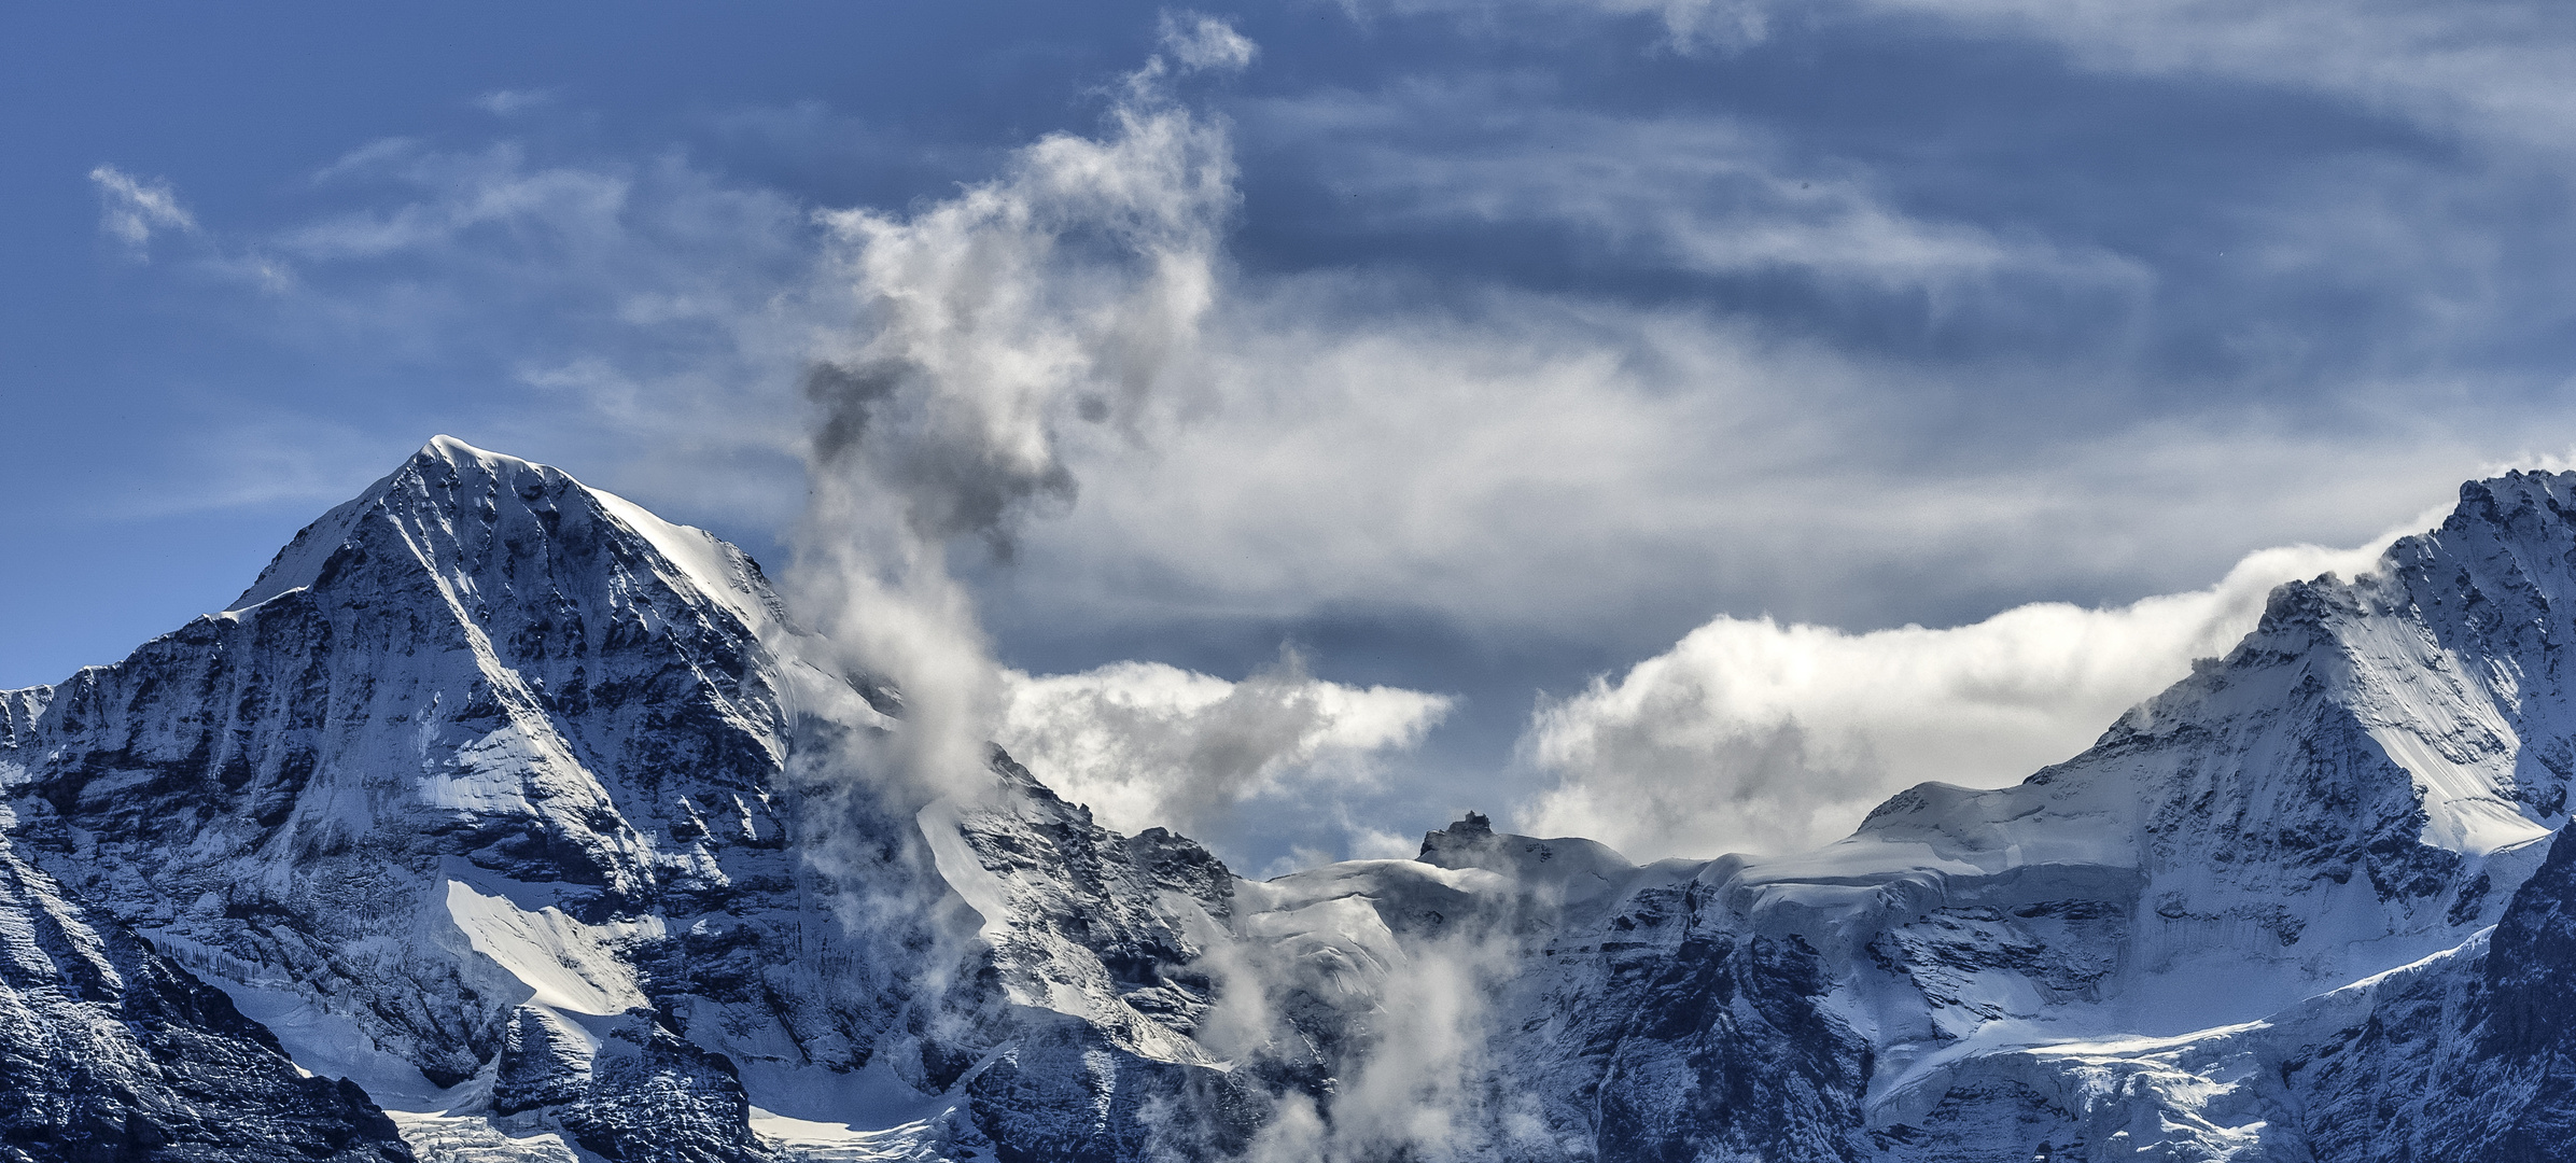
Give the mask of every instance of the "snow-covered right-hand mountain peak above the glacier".
[[[2277, 587], [2254, 633], [2089, 751], [2012, 787], [1911, 787], [1844, 841], [1741, 862], [1726, 895], [1765, 931], [1906, 965], [1937, 1034], [1883, 1063], [2032, 1024], [2246, 1021], [2460, 944], [2566, 821], [2576, 476], [2460, 497], [2365, 574]], [[2002, 967], [2071, 942], [2120, 955]]]

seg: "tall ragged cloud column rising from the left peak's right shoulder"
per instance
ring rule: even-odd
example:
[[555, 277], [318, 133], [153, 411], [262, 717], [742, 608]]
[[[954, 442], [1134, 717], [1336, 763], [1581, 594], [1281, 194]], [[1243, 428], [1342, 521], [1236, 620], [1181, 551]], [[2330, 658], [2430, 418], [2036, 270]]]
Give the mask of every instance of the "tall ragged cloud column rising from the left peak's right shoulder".
[[[1218, 31], [1167, 39], [1224, 57]], [[1159, 57], [1133, 72], [1097, 139], [1046, 136], [909, 216], [822, 216], [858, 327], [822, 337], [806, 371], [817, 430], [791, 584], [853, 672], [902, 692], [902, 738], [873, 767], [925, 795], [984, 780], [1002, 710], [953, 543], [1007, 556], [1015, 522], [1069, 507], [1059, 432], [1133, 425], [1213, 296], [1234, 162], [1221, 126], [1162, 93], [1164, 72]]]

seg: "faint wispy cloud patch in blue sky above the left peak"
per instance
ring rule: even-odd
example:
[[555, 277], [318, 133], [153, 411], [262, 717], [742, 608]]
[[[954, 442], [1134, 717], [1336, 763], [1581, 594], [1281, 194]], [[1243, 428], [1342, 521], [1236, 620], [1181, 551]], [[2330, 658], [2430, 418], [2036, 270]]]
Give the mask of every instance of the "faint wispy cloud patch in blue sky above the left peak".
[[314, 175], [353, 201], [240, 237], [281, 342], [451, 383], [438, 427], [613, 471], [644, 502], [783, 525], [793, 376], [845, 298], [824, 229], [778, 190], [675, 157], [541, 160], [518, 142], [381, 139]]

